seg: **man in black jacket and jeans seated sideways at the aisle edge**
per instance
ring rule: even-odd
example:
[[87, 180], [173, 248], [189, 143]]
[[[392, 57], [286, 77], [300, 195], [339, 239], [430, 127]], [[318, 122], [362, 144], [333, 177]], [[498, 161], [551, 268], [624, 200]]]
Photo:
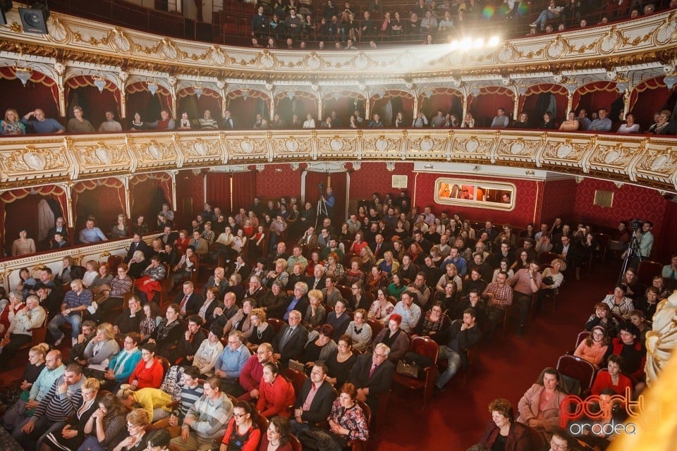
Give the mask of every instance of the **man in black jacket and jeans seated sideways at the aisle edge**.
[[439, 390], [444, 388], [447, 382], [451, 381], [451, 378], [453, 378], [461, 366], [464, 368], [468, 366], [465, 351], [470, 347], [476, 346], [482, 340], [482, 330], [477, 326], [477, 313], [475, 309], [466, 309], [463, 312], [463, 321], [454, 321], [451, 327], [446, 328], [441, 333], [445, 335], [435, 339], [439, 340], [438, 342], [447, 340], [445, 346], [439, 347], [439, 352], [443, 357], [446, 355], [448, 364], [444, 373], [437, 376], [437, 381], [435, 381], [435, 387]]

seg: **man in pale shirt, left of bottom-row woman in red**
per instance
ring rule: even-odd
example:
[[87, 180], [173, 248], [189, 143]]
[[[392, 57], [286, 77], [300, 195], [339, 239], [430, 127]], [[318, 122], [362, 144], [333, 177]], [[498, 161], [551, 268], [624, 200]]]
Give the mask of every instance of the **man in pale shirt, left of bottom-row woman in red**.
[[233, 403], [219, 389], [219, 378], [207, 378], [205, 394], [195, 401], [183, 419], [181, 437], [171, 440], [171, 446], [181, 451], [217, 449], [233, 416]]

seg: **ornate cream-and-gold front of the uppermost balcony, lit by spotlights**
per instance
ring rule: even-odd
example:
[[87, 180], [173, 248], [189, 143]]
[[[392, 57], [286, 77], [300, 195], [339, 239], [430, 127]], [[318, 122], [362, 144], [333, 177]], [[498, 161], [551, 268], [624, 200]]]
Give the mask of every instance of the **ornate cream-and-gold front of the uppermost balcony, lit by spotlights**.
[[[18, 13], [7, 13], [8, 23], [19, 23]], [[0, 50], [59, 58], [97, 61], [111, 66], [193, 73], [204, 76], [275, 73], [280, 78], [305, 78], [317, 73], [318, 80], [344, 75], [366, 79], [384, 75], [449, 76], [457, 80], [470, 74], [506, 77], [506, 68], [520, 72], [575, 70], [609, 66], [613, 60], [631, 63], [670, 58], [661, 54], [673, 49], [677, 35], [677, 12], [666, 11], [609, 27], [590, 27], [553, 37], [540, 35], [513, 39], [499, 47], [474, 49], [471, 53], [451, 51], [445, 44], [379, 49], [370, 51], [287, 51], [226, 47], [151, 35], [111, 27], [91, 20], [52, 13], [49, 34], [24, 33], [20, 27], [0, 27]]]

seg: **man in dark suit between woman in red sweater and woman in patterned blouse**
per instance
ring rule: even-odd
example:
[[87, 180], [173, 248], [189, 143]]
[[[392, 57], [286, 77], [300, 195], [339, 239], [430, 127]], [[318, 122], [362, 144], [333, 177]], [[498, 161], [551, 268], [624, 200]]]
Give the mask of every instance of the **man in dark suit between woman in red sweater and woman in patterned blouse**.
[[[291, 432], [305, 431], [315, 428], [318, 423], [327, 421], [331, 412], [331, 404], [336, 395], [334, 388], [327, 382], [329, 369], [324, 362], [315, 362], [300, 392], [296, 394], [294, 403], [294, 419], [291, 421]], [[312, 389], [312, 397], [310, 392]]]

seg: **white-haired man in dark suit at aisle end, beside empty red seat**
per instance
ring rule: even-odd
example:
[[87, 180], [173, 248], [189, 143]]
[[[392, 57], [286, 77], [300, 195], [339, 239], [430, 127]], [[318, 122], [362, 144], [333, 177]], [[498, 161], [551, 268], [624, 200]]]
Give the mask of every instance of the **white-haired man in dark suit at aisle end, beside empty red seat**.
[[377, 396], [390, 390], [393, 382], [395, 365], [388, 360], [388, 354], [390, 348], [379, 343], [371, 355], [358, 355], [358, 360], [348, 375], [348, 382], [358, 389], [358, 400], [371, 407], [372, 421], [378, 406]]

